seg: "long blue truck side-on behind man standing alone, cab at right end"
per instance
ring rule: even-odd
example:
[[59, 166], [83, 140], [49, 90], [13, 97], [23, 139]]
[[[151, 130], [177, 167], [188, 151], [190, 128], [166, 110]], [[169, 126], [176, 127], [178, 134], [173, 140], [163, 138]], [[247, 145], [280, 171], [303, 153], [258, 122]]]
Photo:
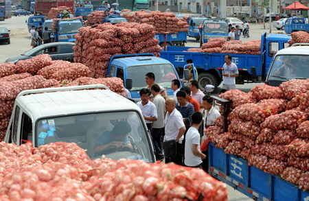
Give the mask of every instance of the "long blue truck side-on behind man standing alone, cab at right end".
[[[279, 49], [288, 47], [291, 37], [284, 34], [269, 34], [264, 32], [261, 36], [261, 54], [231, 54], [232, 61], [238, 66], [239, 76], [236, 84], [246, 82], [262, 82], [265, 80], [273, 56]], [[174, 67], [181, 69], [187, 59], [192, 59], [198, 71], [198, 84], [203, 88], [206, 84], [214, 86], [222, 82], [222, 66], [225, 63], [225, 55], [221, 53], [187, 52], [194, 47], [167, 47], [161, 51], [161, 58], [172, 62]]]

